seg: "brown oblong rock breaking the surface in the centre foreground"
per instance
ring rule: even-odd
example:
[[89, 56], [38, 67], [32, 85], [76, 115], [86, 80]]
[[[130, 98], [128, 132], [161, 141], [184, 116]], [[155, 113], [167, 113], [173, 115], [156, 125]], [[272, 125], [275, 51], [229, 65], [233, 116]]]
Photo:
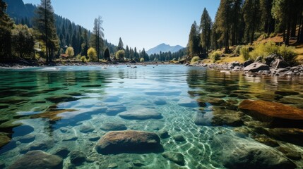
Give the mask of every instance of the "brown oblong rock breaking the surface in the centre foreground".
[[95, 149], [100, 154], [119, 154], [125, 152], [162, 151], [160, 138], [153, 132], [134, 130], [107, 132], [97, 142]]

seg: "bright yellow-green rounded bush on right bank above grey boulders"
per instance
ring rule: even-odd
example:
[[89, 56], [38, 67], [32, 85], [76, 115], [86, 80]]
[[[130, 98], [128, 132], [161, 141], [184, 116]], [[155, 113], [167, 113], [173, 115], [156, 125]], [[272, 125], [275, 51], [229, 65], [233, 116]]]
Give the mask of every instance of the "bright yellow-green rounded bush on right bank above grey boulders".
[[255, 60], [257, 57], [266, 57], [271, 54], [278, 53], [278, 46], [274, 42], [266, 42], [265, 44], [256, 44], [254, 51], [251, 52], [251, 58]]

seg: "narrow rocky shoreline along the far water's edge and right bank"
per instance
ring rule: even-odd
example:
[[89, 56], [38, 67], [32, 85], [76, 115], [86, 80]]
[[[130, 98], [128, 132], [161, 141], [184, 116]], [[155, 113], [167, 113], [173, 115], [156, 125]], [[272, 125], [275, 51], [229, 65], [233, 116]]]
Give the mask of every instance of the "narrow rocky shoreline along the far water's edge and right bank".
[[[34, 67], [53, 67], [53, 66], [82, 66], [82, 65], [185, 65], [185, 66], [196, 66], [196, 67], [204, 67], [210, 70], [218, 70], [222, 72], [238, 72], [244, 73], [248, 77], [256, 77], [256, 76], [273, 76], [273, 77], [281, 77], [281, 76], [294, 76], [294, 77], [303, 77], [303, 65], [297, 66], [287, 66], [285, 68], [271, 68], [264, 63], [259, 62], [251, 62], [251, 63], [239, 63], [234, 61], [232, 63], [195, 63], [191, 65], [189, 63], [186, 64], [178, 64], [178, 63], [170, 63], [170, 62], [117, 62], [117, 63], [104, 63], [104, 62], [52, 62], [52, 63], [44, 63], [44, 62], [33, 62], [33, 63], [25, 63], [25, 62], [14, 62], [14, 63], [0, 63], [0, 69], [22, 69], [22, 68], [34, 68]], [[245, 66], [246, 65], [246, 66]], [[254, 66], [251, 66], [254, 65]], [[251, 69], [247, 67], [251, 67]]]

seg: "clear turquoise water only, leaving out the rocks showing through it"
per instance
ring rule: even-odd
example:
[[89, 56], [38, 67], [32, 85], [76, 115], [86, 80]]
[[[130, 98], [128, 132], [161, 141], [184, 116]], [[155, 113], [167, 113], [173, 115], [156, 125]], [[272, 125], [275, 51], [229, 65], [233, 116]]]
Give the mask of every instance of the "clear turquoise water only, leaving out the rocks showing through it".
[[[83, 151], [87, 156], [88, 160], [77, 168], [107, 168], [112, 163], [118, 168], [136, 168], [133, 161], [144, 163], [141, 168], [182, 168], [155, 153], [97, 154], [96, 139], [106, 133], [100, 127], [112, 122], [124, 123], [129, 130], [156, 133], [167, 130], [171, 137], [161, 139], [161, 144], [165, 151], [184, 155], [186, 165], [183, 168], [224, 168], [225, 154], [237, 148], [237, 144], [227, 144], [226, 138], [230, 142], [238, 139], [256, 146], [264, 144], [255, 141], [259, 134], [251, 132], [245, 123], [237, 127], [213, 124], [215, 108], [237, 113], [235, 108], [242, 99], [287, 102], [303, 108], [302, 77], [244, 77], [242, 73], [183, 65], [2, 69], [0, 77], [0, 132], [13, 133], [11, 142], [0, 149], [0, 163], [6, 167], [32, 147], [50, 154], [68, 147], [70, 151]], [[283, 89], [298, 94], [275, 93]], [[232, 104], [226, 107], [206, 103], [201, 109], [197, 99], [211, 99], [208, 94], [214, 93], [225, 94], [220, 99]], [[61, 99], [52, 98], [54, 96], [61, 96]], [[184, 99], [190, 100], [191, 106], [178, 104]], [[158, 100], [166, 104], [155, 104]], [[124, 111], [155, 108], [163, 118], [124, 120], [113, 108]], [[206, 117], [205, 125], [194, 123], [197, 113]], [[90, 128], [90, 132], [81, 132], [83, 127]], [[176, 134], [181, 134], [186, 141], [176, 142], [173, 138]], [[34, 139], [20, 141], [28, 135]], [[302, 146], [276, 142], [303, 153]], [[302, 159], [294, 163], [303, 166]], [[68, 156], [64, 158], [64, 168], [70, 166]]]

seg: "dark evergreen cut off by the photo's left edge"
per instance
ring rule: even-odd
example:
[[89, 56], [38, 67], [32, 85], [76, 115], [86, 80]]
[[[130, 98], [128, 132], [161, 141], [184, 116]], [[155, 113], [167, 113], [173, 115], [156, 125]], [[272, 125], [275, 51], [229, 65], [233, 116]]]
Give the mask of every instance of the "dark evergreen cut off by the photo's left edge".
[[[6, 3], [0, 0], [0, 56], [11, 56], [11, 29], [13, 21], [6, 14]], [[0, 58], [1, 59], [1, 58]]]

